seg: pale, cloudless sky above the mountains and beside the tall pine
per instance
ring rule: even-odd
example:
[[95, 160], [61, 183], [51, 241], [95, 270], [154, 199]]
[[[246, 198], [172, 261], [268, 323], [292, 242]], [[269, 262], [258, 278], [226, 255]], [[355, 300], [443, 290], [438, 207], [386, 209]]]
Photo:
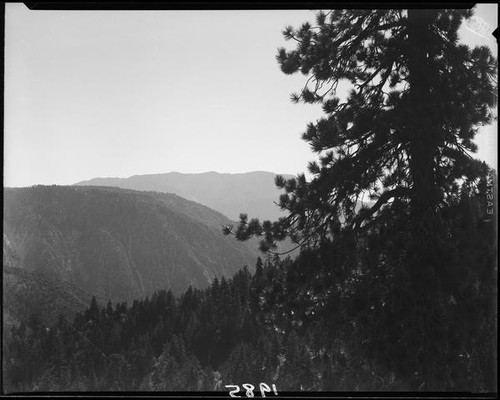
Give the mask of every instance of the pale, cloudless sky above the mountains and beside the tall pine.
[[[30, 11], [6, 4], [4, 186], [179, 172], [305, 172], [319, 106], [275, 60], [306, 10]], [[476, 15], [497, 26], [497, 5]], [[469, 44], [496, 43], [461, 30]], [[483, 35], [481, 34], [483, 33]], [[496, 127], [478, 137], [496, 163]]]

